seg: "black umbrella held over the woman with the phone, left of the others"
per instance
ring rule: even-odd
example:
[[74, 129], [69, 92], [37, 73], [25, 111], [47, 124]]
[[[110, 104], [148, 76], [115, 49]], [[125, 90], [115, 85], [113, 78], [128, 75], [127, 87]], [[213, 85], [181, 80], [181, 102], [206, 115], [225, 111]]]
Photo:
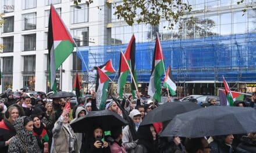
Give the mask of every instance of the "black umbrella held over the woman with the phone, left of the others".
[[106, 130], [111, 130], [115, 126], [126, 125], [127, 122], [116, 112], [109, 110], [104, 111], [92, 111], [86, 116], [83, 116], [73, 123], [70, 124], [74, 132], [76, 133], [87, 133], [92, 132], [96, 126], [101, 126], [101, 128]]

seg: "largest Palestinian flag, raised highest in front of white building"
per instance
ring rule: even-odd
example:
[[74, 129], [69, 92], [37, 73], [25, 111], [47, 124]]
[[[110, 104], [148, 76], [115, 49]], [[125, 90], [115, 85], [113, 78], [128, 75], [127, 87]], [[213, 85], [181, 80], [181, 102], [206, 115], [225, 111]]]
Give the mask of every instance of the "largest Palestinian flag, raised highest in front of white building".
[[69, 34], [65, 24], [51, 5], [48, 25], [48, 56], [49, 56], [49, 81], [51, 89], [56, 92], [56, 70], [67, 59], [74, 49], [74, 39]]

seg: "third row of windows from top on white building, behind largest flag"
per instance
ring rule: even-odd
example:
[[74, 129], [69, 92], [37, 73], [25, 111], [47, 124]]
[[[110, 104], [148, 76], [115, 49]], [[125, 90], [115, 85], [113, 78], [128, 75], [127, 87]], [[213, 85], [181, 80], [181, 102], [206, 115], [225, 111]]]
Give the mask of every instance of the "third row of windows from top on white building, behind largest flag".
[[[71, 35], [73, 35], [74, 41], [77, 46], [88, 46], [88, 27], [75, 28], [71, 30]], [[45, 48], [47, 49], [47, 32], [45, 32]], [[3, 37], [3, 53], [13, 52], [14, 37]], [[36, 34], [23, 35], [24, 46], [23, 51], [36, 50]]]

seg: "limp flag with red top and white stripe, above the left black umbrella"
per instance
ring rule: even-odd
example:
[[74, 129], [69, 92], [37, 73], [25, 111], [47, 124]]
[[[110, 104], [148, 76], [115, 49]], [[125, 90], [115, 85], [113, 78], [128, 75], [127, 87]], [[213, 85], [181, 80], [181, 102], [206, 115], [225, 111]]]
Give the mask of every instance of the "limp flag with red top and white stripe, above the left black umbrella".
[[105, 109], [105, 101], [106, 101], [106, 96], [108, 92], [106, 89], [108, 89], [108, 75], [106, 75], [101, 68], [98, 67], [98, 88], [97, 88], [97, 93], [96, 93], [96, 101], [97, 104], [99, 104], [99, 110], [104, 110]]

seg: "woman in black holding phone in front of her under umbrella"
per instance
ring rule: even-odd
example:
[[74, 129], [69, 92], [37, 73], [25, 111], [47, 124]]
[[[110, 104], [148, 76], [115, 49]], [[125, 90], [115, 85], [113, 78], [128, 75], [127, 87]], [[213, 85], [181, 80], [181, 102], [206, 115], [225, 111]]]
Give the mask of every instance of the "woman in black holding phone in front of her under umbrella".
[[90, 145], [90, 153], [111, 153], [108, 143], [103, 139], [103, 130], [96, 126], [93, 131], [93, 143]]

